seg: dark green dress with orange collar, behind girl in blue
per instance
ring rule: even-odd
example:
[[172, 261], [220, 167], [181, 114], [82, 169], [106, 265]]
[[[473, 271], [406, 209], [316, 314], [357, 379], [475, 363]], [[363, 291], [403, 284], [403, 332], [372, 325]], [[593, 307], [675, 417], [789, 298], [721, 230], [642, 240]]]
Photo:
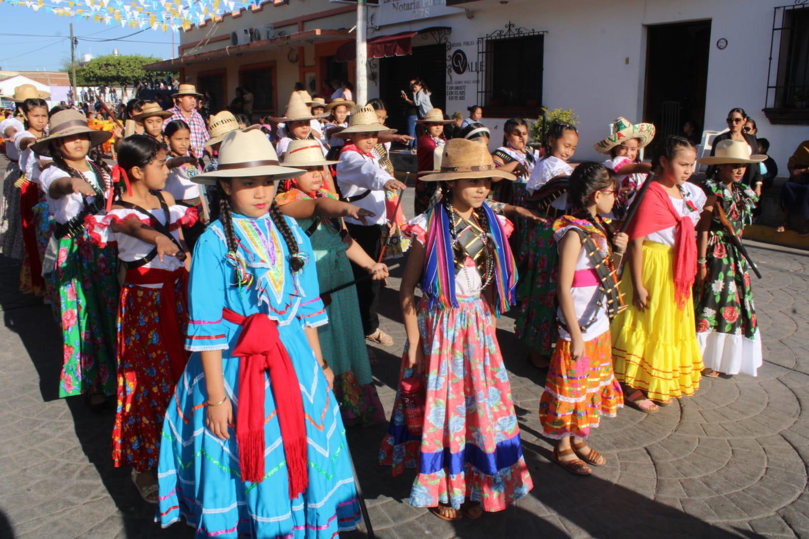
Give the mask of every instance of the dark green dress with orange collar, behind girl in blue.
[[[337, 199], [326, 189], [321, 189], [316, 196]], [[282, 206], [311, 198], [293, 187], [279, 194], [276, 202]], [[314, 217], [299, 219], [298, 224], [311, 240], [320, 293], [354, 280], [349, 257], [345, 254], [348, 244], [341, 236], [342, 221]], [[384, 423], [385, 412], [376, 393], [362, 331], [357, 288], [349, 286], [332, 293], [331, 303], [324, 298], [324, 304], [328, 324], [319, 326], [317, 335], [324, 360], [334, 373], [334, 394], [340, 403], [343, 423], [363, 426]]]

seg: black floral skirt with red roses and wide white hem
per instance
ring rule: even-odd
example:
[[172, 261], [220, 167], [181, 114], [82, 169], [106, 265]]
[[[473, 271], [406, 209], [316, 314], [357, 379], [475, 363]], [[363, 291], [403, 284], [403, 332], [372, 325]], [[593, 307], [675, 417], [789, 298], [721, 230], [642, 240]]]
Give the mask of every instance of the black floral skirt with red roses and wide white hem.
[[712, 231], [707, 266], [705, 282], [694, 287], [702, 361], [719, 373], [754, 377], [764, 358], [748, 261], [723, 232]]

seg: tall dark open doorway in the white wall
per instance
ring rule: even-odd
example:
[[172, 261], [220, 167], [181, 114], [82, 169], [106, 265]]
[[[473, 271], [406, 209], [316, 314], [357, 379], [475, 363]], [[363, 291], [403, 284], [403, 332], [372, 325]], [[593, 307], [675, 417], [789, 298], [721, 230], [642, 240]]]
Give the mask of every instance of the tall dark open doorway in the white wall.
[[[657, 128], [652, 146], [678, 135], [691, 121], [695, 135], [705, 122], [710, 21], [648, 26], [643, 121]], [[649, 150], [647, 150], [648, 153]]]

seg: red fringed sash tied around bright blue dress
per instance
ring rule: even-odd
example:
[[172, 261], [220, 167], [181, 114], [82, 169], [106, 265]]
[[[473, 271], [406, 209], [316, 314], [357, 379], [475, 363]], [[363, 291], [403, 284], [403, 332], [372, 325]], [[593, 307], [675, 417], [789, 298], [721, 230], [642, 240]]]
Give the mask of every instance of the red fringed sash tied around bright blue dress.
[[307, 489], [309, 476], [303, 400], [292, 360], [278, 336], [276, 322], [266, 314], [244, 317], [224, 309], [222, 318], [242, 326], [233, 349], [233, 355], [239, 357], [236, 441], [242, 480], [264, 480], [264, 372], [268, 371], [290, 478], [290, 499], [294, 499]]

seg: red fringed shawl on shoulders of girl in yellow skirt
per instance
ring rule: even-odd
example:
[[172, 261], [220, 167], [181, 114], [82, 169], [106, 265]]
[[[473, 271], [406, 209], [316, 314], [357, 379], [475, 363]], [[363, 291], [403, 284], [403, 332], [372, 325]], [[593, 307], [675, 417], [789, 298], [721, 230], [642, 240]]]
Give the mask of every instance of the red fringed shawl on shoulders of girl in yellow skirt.
[[696, 230], [690, 217], [680, 217], [663, 186], [659, 182], [652, 181], [626, 233], [629, 234], [629, 239], [633, 240], [671, 226], [676, 226], [674, 299], [677, 309], [683, 310], [685, 302], [691, 296], [694, 276], [697, 275]]

